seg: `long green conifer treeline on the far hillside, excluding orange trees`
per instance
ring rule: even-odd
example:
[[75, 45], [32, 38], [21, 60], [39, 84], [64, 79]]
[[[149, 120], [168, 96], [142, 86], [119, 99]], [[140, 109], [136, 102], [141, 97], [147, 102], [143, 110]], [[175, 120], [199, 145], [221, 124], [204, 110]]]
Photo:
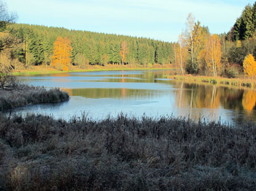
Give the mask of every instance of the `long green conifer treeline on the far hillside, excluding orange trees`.
[[[71, 64], [80, 68], [86, 64], [168, 64], [172, 54], [170, 43], [142, 37], [25, 24], [11, 25], [9, 31], [21, 42], [12, 50], [12, 59], [24, 66], [51, 64], [57, 37], [70, 41]], [[125, 55], [122, 42], [126, 43]]]

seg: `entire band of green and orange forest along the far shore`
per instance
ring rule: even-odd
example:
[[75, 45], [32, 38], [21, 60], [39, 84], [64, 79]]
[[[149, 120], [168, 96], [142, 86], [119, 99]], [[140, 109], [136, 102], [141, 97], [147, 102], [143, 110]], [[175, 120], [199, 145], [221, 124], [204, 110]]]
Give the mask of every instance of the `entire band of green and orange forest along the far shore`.
[[12, 36], [17, 45], [1, 51], [0, 61], [13, 69], [52, 66], [68, 71], [70, 66], [172, 64], [176, 74], [203, 76], [256, 76], [256, 2], [248, 4], [228, 33], [211, 34], [192, 14], [177, 42], [145, 37], [94, 33], [65, 28], [8, 25], [0, 36]]

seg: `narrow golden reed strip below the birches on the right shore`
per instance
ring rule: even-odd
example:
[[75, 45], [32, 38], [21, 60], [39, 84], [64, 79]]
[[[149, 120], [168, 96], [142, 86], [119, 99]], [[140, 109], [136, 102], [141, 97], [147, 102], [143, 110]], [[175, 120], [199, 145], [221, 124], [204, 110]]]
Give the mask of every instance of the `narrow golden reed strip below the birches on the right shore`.
[[225, 77], [208, 77], [208, 76], [191, 76], [191, 75], [172, 75], [167, 76], [168, 79], [183, 80], [185, 82], [199, 83], [199, 84], [218, 84], [228, 85], [234, 87], [249, 87], [256, 88], [256, 79], [249, 78], [234, 78], [229, 79]]

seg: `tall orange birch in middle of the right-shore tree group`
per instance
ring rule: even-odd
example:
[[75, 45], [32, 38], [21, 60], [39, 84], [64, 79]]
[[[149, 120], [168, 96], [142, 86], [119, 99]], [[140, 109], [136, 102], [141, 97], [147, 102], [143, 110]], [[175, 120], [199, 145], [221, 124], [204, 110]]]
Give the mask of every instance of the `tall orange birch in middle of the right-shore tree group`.
[[[213, 76], [217, 76], [221, 68], [221, 44], [217, 34], [209, 36], [205, 41], [204, 50], [202, 51], [204, 52], [204, 60], [207, 66], [212, 68]], [[202, 57], [202, 53], [199, 55]]]

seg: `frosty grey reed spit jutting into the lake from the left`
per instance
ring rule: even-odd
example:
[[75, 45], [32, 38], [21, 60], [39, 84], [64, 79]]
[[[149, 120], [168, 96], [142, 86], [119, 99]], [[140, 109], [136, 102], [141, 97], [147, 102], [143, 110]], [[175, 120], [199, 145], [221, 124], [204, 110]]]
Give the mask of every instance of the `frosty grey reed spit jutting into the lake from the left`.
[[27, 104], [57, 103], [68, 99], [68, 93], [59, 88], [46, 90], [44, 87], [20, 85], [17, 90], [0, 90], [0, 112]]

